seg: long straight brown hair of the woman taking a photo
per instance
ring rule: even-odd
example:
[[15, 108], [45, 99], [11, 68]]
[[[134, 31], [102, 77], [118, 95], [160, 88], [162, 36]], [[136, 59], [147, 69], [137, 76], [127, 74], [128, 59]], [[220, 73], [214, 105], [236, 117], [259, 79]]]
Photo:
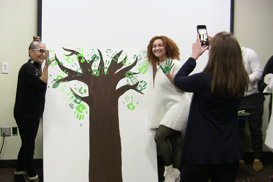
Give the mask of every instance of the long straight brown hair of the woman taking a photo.
[[222, 97], [242, 97], [249, 76], [243, 65], [241, 47], [233, 34], [219, 32], [212, 38], [204, 73], [212, 75], [211, 89]]

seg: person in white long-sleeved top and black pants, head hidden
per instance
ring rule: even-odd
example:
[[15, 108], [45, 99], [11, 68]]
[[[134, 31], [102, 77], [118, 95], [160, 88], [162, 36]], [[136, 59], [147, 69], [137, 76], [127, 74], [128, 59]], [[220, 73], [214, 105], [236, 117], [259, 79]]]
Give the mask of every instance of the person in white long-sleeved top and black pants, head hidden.
[[[249, 74], [248, 90], [245, 91], [245, 95], [240, 103], [239, 110], [245, 110], [247, 113], [251, 113], [248, 116], [249, 130], [251, 135], [251, 143], [253, 150], [253, 170], [260, 172], [263, 169], [262, 162], [262, 114], [264, 95], [258, 91], [258, 81], [262, 75], [262, 68], [257, 53], [247, 47], [241, 47], [245, 70]], [[245, 119], [239, 119], [239, 132], [241, 139], [241, 155], [240, 165], [244, 166], [243, 161], [243, 135], [245, 130]]]

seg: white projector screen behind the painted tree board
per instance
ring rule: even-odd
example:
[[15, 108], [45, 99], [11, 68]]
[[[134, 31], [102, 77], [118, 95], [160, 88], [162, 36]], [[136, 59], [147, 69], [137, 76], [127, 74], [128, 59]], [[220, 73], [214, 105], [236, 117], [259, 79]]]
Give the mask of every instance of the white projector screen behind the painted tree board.
[[[208, 35], [230, 32], [230, 0], [43, 0], [42, 40], [47, 46], [145, 49], [153, 36], [179, 46], [181, 60], [191, 54], [197, 25]], [[38, 32], [40, 33], [40, 32]]]

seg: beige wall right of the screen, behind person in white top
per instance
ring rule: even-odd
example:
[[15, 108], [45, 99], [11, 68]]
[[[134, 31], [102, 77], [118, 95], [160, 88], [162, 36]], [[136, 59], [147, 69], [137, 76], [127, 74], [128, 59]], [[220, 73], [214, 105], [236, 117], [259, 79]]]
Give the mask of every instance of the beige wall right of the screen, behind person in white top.
[[[234, 35], [241, 46], [256, 51], [261, 66], [273, 55], [273, 1], [272, 0], [235, 0], [234, 2]], [[269, 96], [265, 96], [263, 115], [263, 139], [268, 126]], [[251, 151], [251, 140], [247, 127], [245, 139], [246, 151]], [[269, 151], [263, 146], [264, 151]]]

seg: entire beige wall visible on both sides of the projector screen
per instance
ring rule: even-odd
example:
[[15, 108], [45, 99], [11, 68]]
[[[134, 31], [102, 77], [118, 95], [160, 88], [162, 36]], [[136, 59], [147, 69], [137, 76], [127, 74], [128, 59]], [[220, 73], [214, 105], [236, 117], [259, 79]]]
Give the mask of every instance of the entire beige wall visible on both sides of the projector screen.
[[[273, 1], [235, 0], [234, 34], [242, 46], [254, 49], [264, 67], [273, 55]], [[0, 63], [9, 63], [9, 74], [0, 73], [0, 127], [16, 126], [13, 117], [17, 75], [28, 60], [28, 46], [37, 34], [37, 0], [1, 0], [0, 3]], [[268, 123], [268, 100], [264, 104], [263, 133]], [[249, 143], [249, 131], [246, 131]], [[3, 137], [0, 138], [0, 144]], [[16, 159], [20, 148], [20, 136], [5, 137], [0, 160]], [[247, 145], [250, 151], [250, 144]], [[268, 151], [264, 147], [264, 151]], [[34, 158], [43, 158], [42, 122]]]

